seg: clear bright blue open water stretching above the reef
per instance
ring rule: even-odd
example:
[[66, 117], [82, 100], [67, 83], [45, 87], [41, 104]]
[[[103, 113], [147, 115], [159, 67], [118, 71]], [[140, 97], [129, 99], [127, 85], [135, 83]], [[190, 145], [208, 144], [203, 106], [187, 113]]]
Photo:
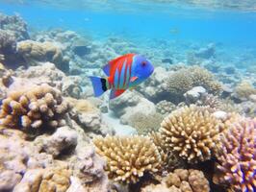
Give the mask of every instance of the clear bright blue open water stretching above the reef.
[[[235, 3], [229, 8], [211, 9], [205, 3], [194, 6], [121, 0], [88, 2], [0, 1], [0, 12], [17, 12], [32, 30], [64, 28], [97, 38], [133, 37], [139, 46], [153, 38], [218, 42], [234, 47], [256, 45], [256, 12], [236, 8]], [[252, 3], [245, 4], [247, 9], [254, 7]]]

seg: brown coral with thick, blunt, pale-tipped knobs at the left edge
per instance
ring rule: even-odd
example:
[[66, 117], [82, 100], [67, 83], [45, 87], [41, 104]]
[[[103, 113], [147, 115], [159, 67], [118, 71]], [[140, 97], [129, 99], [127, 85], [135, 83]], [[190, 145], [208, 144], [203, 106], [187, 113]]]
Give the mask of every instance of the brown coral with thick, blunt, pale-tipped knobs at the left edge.
[[60, 92], [42, 84], [9, 93], [0, 107], [0, 125], [23, 131], [36, 131], [43, 126], [57, 128], [64, 125], [68, 109]]

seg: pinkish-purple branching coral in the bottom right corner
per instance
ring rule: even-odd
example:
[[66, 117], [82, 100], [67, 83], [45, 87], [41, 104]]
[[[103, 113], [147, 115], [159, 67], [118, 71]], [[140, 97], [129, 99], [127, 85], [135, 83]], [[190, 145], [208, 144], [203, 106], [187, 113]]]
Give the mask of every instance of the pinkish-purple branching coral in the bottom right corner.
[[231, 191], [256, 190], [256, 119], [242, 119], [230, 125], [218, 154], [216, 183]]

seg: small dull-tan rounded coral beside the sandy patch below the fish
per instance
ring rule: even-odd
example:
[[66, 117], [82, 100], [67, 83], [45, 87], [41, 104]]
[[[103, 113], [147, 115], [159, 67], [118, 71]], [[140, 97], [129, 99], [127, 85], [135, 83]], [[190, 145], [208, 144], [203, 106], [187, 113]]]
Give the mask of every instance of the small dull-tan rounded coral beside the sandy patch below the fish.
[[163, 119], [163, 115], [158, 112], [147, 115], [137, 112], [130, 116], [129, 125], [134, 127], [139, 134], [147, 134], [158, 131]]

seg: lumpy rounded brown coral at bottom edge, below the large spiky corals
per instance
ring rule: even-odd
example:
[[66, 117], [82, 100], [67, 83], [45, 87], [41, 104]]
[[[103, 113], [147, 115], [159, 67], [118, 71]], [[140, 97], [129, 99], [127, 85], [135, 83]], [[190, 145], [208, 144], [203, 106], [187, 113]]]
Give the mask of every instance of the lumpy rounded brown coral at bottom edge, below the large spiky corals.
[[209, 192], [210, 185], [201, 171], [194, 169], [175, 169], [161, 180], [160, 184], [150, 184], [142, 192]]

